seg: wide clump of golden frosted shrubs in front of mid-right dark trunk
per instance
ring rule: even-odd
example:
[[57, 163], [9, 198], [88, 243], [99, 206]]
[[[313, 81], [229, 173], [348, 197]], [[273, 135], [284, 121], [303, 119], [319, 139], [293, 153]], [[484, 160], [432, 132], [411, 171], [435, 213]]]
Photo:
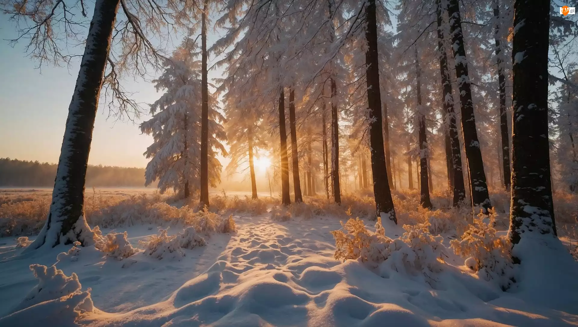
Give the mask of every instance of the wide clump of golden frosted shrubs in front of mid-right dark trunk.
[[342, 226], [346, 232], [331, 232], [335, 238], [335, 259], [360, 259], [373, 267], [390, 263], [391, 269], [404, 270], [408, 274], [441, 270], [439, 258], [444, 251], [443, 237], [429, 234], [428, 224], [404, 225], [406, 232], [397, 239], [384, 235], [379, 217], [375, 233], [368, 231], [359, 218], [350, 218], [346, 224], [342, 222]]

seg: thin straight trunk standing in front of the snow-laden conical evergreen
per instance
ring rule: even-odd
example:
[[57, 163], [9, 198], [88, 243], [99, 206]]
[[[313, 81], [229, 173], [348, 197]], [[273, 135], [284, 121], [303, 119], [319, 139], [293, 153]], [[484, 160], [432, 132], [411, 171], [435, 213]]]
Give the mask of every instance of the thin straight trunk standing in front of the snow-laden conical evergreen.
[[205, 0], [201, 17], [201, 200], [199, 207], [209, 207], [209, 81], [207, 77], [207, 13]]

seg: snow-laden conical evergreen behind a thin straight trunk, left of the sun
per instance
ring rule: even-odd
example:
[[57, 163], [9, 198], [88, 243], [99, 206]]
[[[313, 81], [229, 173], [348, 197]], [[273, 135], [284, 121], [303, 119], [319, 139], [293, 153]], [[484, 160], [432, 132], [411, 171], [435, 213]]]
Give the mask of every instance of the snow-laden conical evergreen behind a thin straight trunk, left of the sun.
[[[146, 185], [158, 180], [161, 193], [173, 188], [184, 198], [201, 187], [201, 62], [196, 60], [194, 42], [187, 39], [171, 58], [165, 61], [162, 75], [153, 81], [163, 90], [161, 98], [151, 105], [150, 120], [140, 124], [140, 130], [153, 136], [154, 143], [144, 156], [150, 159], [146, 168]], [[216, 158], [226, 155], [226, 139], [218, 112], [217, 100], [209, 107], [209, 183], [220, 182], [221, 164]]]

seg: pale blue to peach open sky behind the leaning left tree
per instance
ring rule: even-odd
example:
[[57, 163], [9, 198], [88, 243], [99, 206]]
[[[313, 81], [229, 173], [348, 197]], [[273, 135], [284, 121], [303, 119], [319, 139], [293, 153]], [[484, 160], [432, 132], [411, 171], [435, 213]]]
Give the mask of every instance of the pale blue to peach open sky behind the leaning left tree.
[[[14, 25], [0, 14], [0, 158], [55, 163], [60, 156], [79, 61], [71, 66], [49, 64], [38, 69], [38, 61], [26, 57], [24, 42], [9, 45], [6, 39], [15, 36]], [[217, 37], [210, 35], [209, 45]], [[83, 49], [73, 51], [82, 53]], [[210, 72], [209, 80], [218, 76], [219, 72]], [[137, 102], [153, 103], [160, 98], [161, 93], [149, 81], [129, 77], [124, 83], [127, 90], [137, 92]], [[148, 113], [148, 106], [143, 108]], [[88, 164], [145, 167], [148, 160], [143, 153], [153, 138], [142, 135], [138, 123], [150, 116], [144, 114], [136, 124], [107, 117], [108, 109], [99, 107]]]

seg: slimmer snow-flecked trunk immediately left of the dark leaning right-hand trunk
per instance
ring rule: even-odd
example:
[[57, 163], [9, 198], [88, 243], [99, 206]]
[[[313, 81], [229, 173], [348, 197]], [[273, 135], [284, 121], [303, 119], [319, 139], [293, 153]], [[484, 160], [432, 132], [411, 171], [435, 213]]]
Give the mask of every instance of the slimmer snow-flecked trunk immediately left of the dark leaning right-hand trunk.
[[458, 206], [465, 199], [464, 173], [462, 172], [462, 154], [458, 127], [455, 118], [454, 98], [451, 90], [450, 70], [447, 66], [447, 53], [443, 35], [442, 1], [436, 0], [436, 14], [438, 18], [438, 51], [439, 68], [442, 75], [442, 103], [446, 114], [444, 125], [447, 127], [451, 153], [451, 182], [453, 191], [453, 206]]

